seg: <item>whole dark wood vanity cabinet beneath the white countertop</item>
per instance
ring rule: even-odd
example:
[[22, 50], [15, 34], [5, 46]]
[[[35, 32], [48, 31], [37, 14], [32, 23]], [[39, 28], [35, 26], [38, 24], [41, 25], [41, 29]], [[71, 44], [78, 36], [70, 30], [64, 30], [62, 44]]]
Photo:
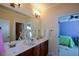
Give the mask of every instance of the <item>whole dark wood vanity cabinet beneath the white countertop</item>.
[[47, 56], [48, 54], [48, 40], [25, 51], [17, 56]]

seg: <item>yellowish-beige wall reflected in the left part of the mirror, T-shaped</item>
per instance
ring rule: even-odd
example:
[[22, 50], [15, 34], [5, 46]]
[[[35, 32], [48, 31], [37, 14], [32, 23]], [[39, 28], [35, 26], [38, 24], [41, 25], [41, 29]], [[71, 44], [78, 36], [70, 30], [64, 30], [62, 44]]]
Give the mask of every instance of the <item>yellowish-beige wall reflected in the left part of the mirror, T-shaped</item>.
[[15, 22], [25, 22], [30, 19], [29, 16], [25, 16], [14, 11], [8, 10], [0, 6], [0, 18], [10, 21], [10, 40], [15, 40]]

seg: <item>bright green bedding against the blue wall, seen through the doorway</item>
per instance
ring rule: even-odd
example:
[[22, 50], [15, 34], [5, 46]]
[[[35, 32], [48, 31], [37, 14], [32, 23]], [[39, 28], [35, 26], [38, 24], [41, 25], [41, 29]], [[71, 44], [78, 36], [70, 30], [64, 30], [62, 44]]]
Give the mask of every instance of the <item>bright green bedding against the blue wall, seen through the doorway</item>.
[[68, 46], [68, 47], [74, 46], [74, 42], [73, 42], [73, 40], [70, 36], [60, 36], [59, 37], [59, 44], [65, 45], [65, 46]]

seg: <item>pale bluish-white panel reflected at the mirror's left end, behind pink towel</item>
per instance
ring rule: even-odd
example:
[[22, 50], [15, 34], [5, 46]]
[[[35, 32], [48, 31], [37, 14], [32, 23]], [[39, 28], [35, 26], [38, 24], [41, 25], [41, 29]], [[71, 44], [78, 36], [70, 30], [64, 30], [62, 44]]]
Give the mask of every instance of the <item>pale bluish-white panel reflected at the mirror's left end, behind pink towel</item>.
[[10, 41], [10, 22], [9, 20], [0, 19], [0, 27], [2, 28], [3, 41]]

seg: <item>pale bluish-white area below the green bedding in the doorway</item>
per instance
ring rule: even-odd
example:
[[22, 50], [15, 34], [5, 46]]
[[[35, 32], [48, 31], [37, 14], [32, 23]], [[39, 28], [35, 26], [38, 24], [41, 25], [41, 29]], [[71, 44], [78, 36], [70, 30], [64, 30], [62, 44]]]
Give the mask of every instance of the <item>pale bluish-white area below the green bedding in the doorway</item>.
[[78, 56], [78, 47], [74, 46], [69, 48], [67, 46], [59, 45], [59, 55], [60, 56]]

